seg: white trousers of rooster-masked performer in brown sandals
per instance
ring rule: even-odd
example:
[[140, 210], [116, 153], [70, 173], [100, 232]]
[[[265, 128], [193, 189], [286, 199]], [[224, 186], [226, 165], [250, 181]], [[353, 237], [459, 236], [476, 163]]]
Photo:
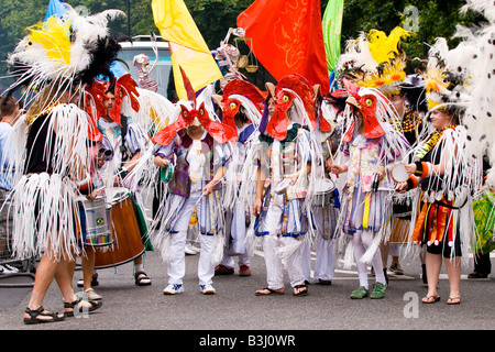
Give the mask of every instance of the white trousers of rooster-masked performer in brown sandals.
[[263, 239], [263, 251], [266, 264], [266, 282], [271, 289], [284, 287], [284, 264], [287, 270], [290, 286], [294, 287], [305, 282], [301, 267], [301, 246], [288, 255], [285, 261], [283, 261], [280, 253], [278, 253], [284, 246], [297, 245], [298, 241], [301, 241], [300, 239], [280, 235], [283, 210], [283, 197], [277, 195], [273, 198], [263, 222], [262, 231], [268, 231], [270, 233]]

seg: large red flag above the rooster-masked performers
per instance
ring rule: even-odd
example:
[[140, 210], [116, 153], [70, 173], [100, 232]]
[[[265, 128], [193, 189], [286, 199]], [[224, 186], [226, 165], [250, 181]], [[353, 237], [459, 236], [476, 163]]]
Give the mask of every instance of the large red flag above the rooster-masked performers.
[[255, 0], [238, 16], [238, 26], [276, 80], [299, 74], [329, 92], [319, 0]]

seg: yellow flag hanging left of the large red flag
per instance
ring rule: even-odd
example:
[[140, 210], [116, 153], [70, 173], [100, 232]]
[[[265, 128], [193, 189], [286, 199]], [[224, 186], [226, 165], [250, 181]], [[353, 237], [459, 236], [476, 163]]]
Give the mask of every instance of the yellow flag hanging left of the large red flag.
[[195, 91], [223, 77], [183, 0], [153, 0], [152, 9], [155, 25], [169, 43], [179, 99], [187, 100], [179, 67], [185, 70]]

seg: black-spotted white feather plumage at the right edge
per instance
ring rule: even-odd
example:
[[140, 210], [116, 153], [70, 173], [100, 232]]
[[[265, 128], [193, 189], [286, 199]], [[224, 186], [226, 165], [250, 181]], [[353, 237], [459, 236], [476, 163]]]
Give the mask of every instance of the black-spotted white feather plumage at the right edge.
[[[465, 154], [476, 161], [477, 177], [482, 177], [482, 160], [487, 156], [492, 169], [486, 178], [491, 189], [495, 189], [495, 3], [487, 0], [468, 0], [461, 14], [473, 11], [484, 15], [486, 22], [479, 28], [458, 25], [454, 37], [460, 44], [444, 54], [449, 70], [462, 75], [462, 84], [457, 84], [454, 98], [463, 108], [462, 124], [466, 129]], [[480, 184], [480, 182], [479, 182]]]

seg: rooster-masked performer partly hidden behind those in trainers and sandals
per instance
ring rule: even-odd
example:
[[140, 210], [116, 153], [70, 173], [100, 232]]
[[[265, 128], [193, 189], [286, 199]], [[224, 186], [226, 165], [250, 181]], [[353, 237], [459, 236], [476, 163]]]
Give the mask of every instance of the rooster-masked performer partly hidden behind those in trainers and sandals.
[[[232, 169], [223, 185], [223, 207], [226, 209], [227, 241], [223, 258], [215, 268], [215, 275], [234, 273], [234, 256], [239, 258], [239, 275], [251, 275], [251, 256], [245, 246], [246, 232], [251, 223], [251, 205], [239, 197], [243, 179], [243, 167], [249, 151], [257, 140], [262, 110], [266, 94], [253, 84], [234, 79], [223, 87], [222, 96], [213, 96], [222, 108], [222, 122], [235, 129], [238, 141], [232, 143], [233, 154], [229, 163]], [[254, 187], [253, 187], [254, 188]], [[253, 189], [252, 188], [252, 189]], [[245, 187], [243, 187], [245, 189]]]

